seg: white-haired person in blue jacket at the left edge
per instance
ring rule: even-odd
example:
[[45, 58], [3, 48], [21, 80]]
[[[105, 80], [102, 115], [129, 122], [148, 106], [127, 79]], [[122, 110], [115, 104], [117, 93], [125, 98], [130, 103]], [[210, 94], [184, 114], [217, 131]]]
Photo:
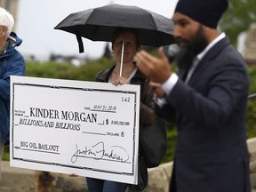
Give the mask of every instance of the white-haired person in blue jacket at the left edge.
[[0, 179], [4, 145], [10, 140], [10, 76], [25, 75], [25, 60], [15, 49], [22, 40], [13, 26], [12, 14], [0, 7]]

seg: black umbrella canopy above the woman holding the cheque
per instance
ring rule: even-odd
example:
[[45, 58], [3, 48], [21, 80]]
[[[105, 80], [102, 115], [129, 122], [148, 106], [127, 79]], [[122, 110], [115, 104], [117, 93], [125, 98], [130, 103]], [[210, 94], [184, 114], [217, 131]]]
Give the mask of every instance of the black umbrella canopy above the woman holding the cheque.
[[163, 15], [137, 6], [109, 4], [68, 15], [54, 29], [75, 34], [79, 52], [84, 52], [81, 36], [92, 41], [111, 42], [116, 28], [138, 28], [140, 44], [159, 47], [174, 43], [174, 23]]

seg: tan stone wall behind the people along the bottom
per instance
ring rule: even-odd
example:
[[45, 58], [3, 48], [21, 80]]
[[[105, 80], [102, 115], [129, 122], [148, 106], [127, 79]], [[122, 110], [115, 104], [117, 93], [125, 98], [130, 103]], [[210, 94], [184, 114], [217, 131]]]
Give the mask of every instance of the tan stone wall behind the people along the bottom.
[[[256, 192], [256, 138], [247, 140], [250, 154], [252, 192]], [[3, 162], [1, 192], [86, 192], [84, 177], [71, 178], [67, 174], [38, 172], [10, 167]], [[148, 169], [148, 187], [143, 192], [167, 192], [171, 180], [172, 162]], [[48, 188], [48, 190], [44, 190]]]

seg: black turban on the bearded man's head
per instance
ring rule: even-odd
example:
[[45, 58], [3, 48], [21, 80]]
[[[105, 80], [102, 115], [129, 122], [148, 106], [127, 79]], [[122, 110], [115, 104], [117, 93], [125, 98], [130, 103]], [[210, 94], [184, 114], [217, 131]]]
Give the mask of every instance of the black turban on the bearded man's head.
[[228, 9], [228, 0], [179, 0], [175, 12], [209, 27], [217, 28], [223, 12]]

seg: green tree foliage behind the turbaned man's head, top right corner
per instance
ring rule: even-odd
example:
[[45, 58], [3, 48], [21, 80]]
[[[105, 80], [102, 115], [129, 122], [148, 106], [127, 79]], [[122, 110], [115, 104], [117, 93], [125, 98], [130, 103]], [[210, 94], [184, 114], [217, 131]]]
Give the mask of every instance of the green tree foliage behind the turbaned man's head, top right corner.
[[229, 36], [231, 43], [236, 45], [237, 36], [256, 23], [255, 0], [229, 0], [227, 12], [220, 20], [220, 29]]

